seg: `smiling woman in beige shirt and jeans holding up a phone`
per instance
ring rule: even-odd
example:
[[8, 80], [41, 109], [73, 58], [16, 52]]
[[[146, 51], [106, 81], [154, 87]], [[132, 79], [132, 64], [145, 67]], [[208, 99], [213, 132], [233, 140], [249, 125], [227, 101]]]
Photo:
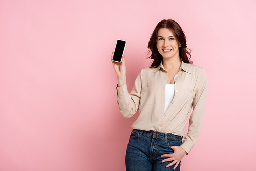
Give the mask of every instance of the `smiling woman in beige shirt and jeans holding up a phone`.
[[[153, 62], [140, 72], [130, 94], [125, 58], [122, 63], [112, 61], [120, 112], [131, 117], [139, 110], [127, 146], [126, 169], [180, 170], [181, 159], [190, 152], [201, 131], [206, 75], [201, 67], [190, 63], [186, 37], [174, 20], [158, 23], [148, 48]], [[182, 142], [188, 118], [189, 129]]]

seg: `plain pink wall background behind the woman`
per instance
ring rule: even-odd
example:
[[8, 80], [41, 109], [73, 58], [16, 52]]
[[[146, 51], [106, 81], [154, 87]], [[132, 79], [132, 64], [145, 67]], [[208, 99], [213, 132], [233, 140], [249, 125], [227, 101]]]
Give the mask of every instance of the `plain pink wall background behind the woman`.
[[0, 1], [0, 170], [125, 170], [110, 62], [127, 41], [131, 90], [147, 42], [175, 19], [208, 78], [201, 135], [182, 170], [256, 170], [256, 1]]

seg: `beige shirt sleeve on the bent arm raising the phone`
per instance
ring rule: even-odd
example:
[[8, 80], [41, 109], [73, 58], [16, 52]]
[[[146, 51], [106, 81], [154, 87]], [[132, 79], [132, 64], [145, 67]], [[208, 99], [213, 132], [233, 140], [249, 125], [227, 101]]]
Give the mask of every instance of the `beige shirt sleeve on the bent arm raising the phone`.
[[[142, 70], [143, 71], [143, 70]], [[135, 80], [131, 93], [128, 93], [127, 84], [121, 87], [116, 86], [116, 99], [119, 110], [125, 118], [132, 117], [139, 109], [142, 71]]]

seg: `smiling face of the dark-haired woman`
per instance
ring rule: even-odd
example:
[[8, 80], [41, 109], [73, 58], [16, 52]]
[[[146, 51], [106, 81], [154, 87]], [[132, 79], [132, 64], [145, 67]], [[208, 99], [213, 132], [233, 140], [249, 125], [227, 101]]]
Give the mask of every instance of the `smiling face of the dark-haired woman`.
[[180, 58], [179, 42], [173, 31], [168, 28], [161, 28], [157, 33], [157, 50], [163, 58]]

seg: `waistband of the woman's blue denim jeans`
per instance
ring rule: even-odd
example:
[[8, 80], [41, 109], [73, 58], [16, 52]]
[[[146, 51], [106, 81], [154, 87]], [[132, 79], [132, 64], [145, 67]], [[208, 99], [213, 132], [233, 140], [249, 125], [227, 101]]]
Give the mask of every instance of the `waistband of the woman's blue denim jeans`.
[[150, 135], [152, 137], [163, 138], [163, 139], [176, 139], [176, 138], [183, 137], [180, 135], [174, 135], [172, 133], [162, 133], [162, 132], [153, 131], [153, 130], [145, 131], [145, 130], [133, 129], [133, 132], [138, 132], [140, 135], [146, 134], [146, 135]]

